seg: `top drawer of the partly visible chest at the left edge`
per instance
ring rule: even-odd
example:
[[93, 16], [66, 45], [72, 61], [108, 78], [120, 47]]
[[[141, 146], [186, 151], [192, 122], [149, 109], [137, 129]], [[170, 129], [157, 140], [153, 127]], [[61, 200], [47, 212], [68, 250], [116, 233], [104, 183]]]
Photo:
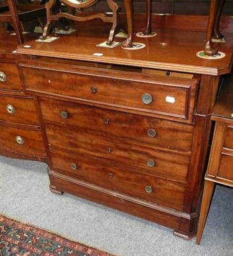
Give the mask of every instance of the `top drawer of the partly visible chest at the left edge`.
[[0, 63], [0, 90], [22, 91], [19, 72], [15, 63]]

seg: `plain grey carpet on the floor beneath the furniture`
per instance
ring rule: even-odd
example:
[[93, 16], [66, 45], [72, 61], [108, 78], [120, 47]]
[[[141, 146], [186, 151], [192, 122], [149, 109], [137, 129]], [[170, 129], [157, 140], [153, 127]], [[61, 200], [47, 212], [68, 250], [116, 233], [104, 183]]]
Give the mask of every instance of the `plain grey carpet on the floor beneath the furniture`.
[[200, 246], [165, 228], [49, 191], [47, 165], [0, 156], [0, 212], [121, 256], [233, 256], [233, 189], [216, 186]]

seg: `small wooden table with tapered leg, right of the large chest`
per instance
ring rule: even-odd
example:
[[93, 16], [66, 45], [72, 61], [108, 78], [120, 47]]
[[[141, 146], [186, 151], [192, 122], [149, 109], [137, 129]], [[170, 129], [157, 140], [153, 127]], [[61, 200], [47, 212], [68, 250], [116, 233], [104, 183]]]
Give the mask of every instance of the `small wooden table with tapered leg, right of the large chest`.
[[218, 183], [233, 187], [233, 72], [225, 78], [211, 120], [216, 124], [205, 176], [196, 244], [200, 244], [214, 185]]

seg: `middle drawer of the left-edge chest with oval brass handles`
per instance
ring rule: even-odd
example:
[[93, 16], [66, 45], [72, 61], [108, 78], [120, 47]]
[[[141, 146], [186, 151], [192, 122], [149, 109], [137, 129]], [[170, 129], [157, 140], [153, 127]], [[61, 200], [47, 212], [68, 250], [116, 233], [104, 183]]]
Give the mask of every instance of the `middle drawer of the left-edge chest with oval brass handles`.
[[0, 95], [0, 120], [17, 124], [38, 125], [33, 99]]

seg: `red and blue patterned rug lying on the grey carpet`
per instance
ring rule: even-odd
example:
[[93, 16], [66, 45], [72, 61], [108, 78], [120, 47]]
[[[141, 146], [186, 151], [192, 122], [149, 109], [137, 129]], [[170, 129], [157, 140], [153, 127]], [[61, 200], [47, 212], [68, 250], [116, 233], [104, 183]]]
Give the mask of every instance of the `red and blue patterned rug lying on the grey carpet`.
[[0, 256], [114, 256], [0, 214]]

